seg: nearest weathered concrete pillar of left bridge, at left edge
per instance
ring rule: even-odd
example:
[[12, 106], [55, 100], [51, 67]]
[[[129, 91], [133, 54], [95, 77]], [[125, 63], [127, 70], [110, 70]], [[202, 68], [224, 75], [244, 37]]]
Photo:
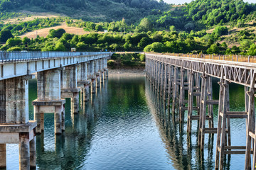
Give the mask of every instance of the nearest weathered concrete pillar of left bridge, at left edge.
[[[6, 167], [6, 143], [19, 144], [19, 167], [36, 164], [30, 157], [29, 141], [35, 137], [36, 121], [28, 121], [28, 79], [16, 77], [0, 81], [0, 168]], [[36, 150], [36, 149], [35, 149]]]

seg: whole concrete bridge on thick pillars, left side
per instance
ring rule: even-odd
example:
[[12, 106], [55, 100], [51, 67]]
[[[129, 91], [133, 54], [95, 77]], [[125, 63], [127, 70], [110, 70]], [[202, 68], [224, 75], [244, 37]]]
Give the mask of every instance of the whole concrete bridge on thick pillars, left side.
[[[0, 52], [0, 168], [6, 167], [6, 144], [19, 144], [20, 169], [36, 167], [36, 133], [44, 114], [54, 113], [55, 134], [65, 130], [65, 99], [72, 113], [108, 76], [110, 52]], [[34, 120], [28, 120], [28, 79], [37, 78]]]

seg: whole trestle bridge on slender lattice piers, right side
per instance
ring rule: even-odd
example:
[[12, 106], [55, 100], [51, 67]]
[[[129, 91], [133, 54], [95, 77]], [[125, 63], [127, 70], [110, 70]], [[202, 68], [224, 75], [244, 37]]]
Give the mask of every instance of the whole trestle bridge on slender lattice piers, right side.
[[[203, 152], [205, 134], [217, 133], [215, 169], [223, 169], [225, 154], [245, 154], [245, 169], [255, 169], [255, 79], [256, 64], [220, 61], [193, 56], [167, 56], [146, 54], [146, 77], [158, 91], [164, 91], [167, 105], [183, 121], [188, 111], [188, 134], [191, 123], [198, 120], [198, 147]], [[250, 60], [250, 58], [249, 58]], [[187, 79], [186, 79], [187, 76]], [[212, 77], [220, 79], [219, 100], [213, 100]], [[229, 84], [245, 86], [245, 111], [230, 111]], [[185, 94], [188, 93], [188, 100]], [[172, 102], [171, 102], [172, 99]], [[196, 106], [193, 106], [196, 99]], [[213, 105], [218, 105], [218, 126], [213, 124]], [[245, 146], [231, 145], [230, 119], [244, 118], [247, 122]], [[208, 125], [206, 125], [208, 120]], [[253, 154], [252, 161], [250, 154]]]

